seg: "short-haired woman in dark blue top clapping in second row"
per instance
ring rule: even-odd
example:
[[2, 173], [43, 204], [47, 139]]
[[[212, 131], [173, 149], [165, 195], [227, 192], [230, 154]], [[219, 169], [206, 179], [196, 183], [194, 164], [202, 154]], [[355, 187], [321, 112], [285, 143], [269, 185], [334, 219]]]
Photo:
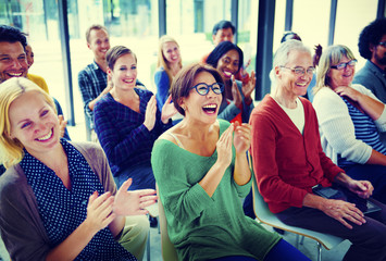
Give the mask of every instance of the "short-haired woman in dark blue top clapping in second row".
[[119, 187], [132, 177], [130, 189], [155, 188], [152, 146], [172, 126], [176, 110], [169, 98], [161, 114], [153, 94], [136, 88], [137, 58], [128, 48], [111, 48], [107, 61], [114, 87], [94, 110], [98, 139]]

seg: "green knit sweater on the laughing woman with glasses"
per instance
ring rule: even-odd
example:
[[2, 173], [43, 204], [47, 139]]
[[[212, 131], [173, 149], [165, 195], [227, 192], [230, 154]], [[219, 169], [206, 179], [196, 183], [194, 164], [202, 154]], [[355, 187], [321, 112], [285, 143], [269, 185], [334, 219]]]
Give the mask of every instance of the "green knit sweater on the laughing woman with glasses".
[[[220, 135], [229, 123], [219, 120]], [[209, 260], [247, 256], [263, 260], [279, 240], [246, 216], [241, 200], [251, 182], [238, 186], [233, 178], [233, 161], [212, 197], [198, 184], [215, 163], [211, 157], [191, 153], [177, 145], [155, 141], [151, 163], [167, 220], [167, 232], [179, 260]]]

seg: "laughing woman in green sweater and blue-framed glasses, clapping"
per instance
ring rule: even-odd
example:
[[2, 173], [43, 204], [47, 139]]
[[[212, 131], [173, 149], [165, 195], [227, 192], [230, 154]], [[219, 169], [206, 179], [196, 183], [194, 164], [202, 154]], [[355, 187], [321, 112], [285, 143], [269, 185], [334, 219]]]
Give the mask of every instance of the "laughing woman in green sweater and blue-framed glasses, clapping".
[[250, 125], [217, 120], [224, 85], [209, 65], [184, 67], [172, 98], [184, 120], [155, 141], [151, 163], [179, 260], [309, 260], [242, 212], [251, 187]]

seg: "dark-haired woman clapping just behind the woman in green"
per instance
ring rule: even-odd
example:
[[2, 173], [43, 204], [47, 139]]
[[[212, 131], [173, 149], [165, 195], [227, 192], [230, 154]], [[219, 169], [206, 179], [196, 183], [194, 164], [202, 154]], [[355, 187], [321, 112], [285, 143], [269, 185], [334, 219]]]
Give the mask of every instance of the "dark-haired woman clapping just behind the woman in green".
[[254, 72], [248, 82], [235, 79], [244, 63], [241, 49], [231, 41], [219, 44], [209, 54], [207, 63], [217, 69], [224, 82], [224, 99], [219, 110], [219, 117], [228, 122], [248, 123], [254, 108], [251, 97], [256, 86]]

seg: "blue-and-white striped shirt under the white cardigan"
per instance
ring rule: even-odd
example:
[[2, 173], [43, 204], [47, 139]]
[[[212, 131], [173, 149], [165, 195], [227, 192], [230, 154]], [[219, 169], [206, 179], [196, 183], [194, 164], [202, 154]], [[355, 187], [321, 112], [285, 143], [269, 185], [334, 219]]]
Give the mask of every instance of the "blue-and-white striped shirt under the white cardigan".
[[[341, 99], [347, 104], [352, 124], [354, 126], [356, 138], [362, 140], [374, 150], [386, 154], [386, 147], [379, 140], [379, 134], [377, 127], [368, 114], [361, 112], [357, 107], [349, 102], [345, 97]], [[340, 167], [357, 164], [357, 162], [349, 161], [338, 154], [338, 165]]]

